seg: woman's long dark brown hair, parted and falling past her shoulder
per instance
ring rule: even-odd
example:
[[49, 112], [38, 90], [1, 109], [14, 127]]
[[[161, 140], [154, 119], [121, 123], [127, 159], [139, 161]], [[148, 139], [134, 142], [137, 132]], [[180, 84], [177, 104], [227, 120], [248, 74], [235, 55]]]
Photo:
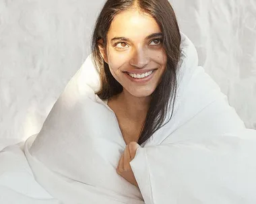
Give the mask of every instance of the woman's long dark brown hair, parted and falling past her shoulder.
[[[152, 93], [150, 107], [146, 115], [146, 120], [141, 129], [139, 140], [140, 145], [160, 127], [165, 125], [166, 113], [172, 105], [177, 93], [177, 65], [181, 56], [181, 34], [179, 25], [172, 6], [168, 0], [108, 0], [106, 1], [94, 28], [92, 36], [92, 56], [94, 65], [100, 74], [100, 90], [96, 93], [102, 100], [109, 99], [123, 91], [122, 85], [110, 73], [108, 64], [104, 62], [100, 54], [101, 45], [106, 48], [106, 36], [115, 15], [127, 9], [137, 8], [143, 13], [154, 17], [163, 34], [163, 46], [167, 56], [166, 70], [156, 90]], [[172, 113], [170, 118], [172, 117]], [[168, 121], [170, 120], [168, 119]]]

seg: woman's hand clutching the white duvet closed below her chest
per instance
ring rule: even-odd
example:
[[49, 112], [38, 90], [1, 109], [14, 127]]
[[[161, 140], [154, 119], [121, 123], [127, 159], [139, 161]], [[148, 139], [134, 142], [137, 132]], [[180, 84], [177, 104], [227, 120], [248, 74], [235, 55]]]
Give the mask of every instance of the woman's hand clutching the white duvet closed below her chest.
[[133, 170], [131, 170], [130, 162], [135, 157], [137, 148], [139, 147], [140, 146], [137, 144], [137, 142], [130, 142], [127, 144], [117, 166], [117, 173], [136, 187], [138, 187], [138, 185], [133, 174]]

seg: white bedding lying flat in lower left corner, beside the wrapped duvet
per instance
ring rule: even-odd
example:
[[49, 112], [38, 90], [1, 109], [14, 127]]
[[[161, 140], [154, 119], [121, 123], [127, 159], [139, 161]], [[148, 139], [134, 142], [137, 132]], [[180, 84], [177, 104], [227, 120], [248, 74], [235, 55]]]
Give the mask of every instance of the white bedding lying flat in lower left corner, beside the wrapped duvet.
[[24, 155], [24, 142], [0, 152], [1, 204], [60, 204], [35, 180]]

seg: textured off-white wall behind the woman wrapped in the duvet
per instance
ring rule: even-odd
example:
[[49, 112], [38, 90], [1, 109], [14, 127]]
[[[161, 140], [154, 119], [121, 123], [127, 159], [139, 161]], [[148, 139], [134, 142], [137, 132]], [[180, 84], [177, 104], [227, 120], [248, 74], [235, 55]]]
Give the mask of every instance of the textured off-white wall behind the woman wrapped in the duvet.
[[[256, 0], [170, 2], [199, 64], [256, 129]], [[0, 148], [39, 132], [90, 53], [103, 3], [0, 0]]]

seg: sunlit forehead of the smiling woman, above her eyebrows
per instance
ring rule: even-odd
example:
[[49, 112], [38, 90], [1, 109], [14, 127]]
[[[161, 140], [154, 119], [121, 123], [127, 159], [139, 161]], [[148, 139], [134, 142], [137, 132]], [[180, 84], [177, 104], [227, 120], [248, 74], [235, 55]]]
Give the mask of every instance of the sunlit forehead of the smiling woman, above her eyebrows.
[[136, 10], [129, 10], [115, 16], [108, 30], [108, 39], [124, 37], [142, 40], [150, 34], [160, 32], [154, 17]]

